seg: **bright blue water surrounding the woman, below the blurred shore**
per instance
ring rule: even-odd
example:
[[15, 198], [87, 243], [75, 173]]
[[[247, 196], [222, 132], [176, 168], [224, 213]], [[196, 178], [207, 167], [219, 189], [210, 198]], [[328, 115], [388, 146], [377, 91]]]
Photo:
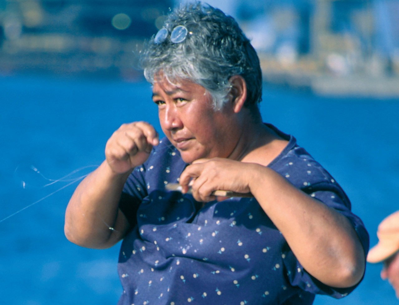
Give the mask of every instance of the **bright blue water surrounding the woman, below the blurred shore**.
[[[0, 303], [117, 303], [119, 244], [93, 250], [65, 239], [65, 207], [77, 182], [68, 184], [93, 169], [85, 166], [102, 162], [105, 143], [121, 123], [146, 120], [160, 130], [150, 96], [144, 82], [0, 78], [0, 220], [27, 207], [0, 222]], [[266, 88], [261, 110], [264, 121], [295, 135], [343, 186], [375, 244], [378, 223], [399, 209], [399, 99]], [[46, 179], [74, 170], [45, 186]], [[397, 304], [380, 268], [367, 264], [348, 297], [316, 297], [315, 304]]]

